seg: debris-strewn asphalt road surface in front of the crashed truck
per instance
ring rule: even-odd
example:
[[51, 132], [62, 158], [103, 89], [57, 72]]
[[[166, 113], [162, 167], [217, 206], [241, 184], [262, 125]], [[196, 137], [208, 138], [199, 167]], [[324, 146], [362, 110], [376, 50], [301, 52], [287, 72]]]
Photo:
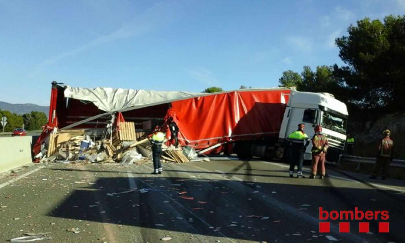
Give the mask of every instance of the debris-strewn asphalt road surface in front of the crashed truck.
[[[52, 164], [9, 185], [0, 178], [0, 241], [50, 232], [46, 242], [404, 242], [405, 183], [370, 181], [367, 175], [328, 170], [330, 177], [288, 177], [288, 166], [221, 160], [152, 165]], [[307, 175], [307, 174], [306, 174]], [[2, 186], [3, 185], [3, 186]], [[132, 190], [128, 192], [128, 190]], [[122, 193], [120, 193], [122, 192]], [[390, 232], [319, 232], [324, 210], [387, 210]], [[75, 232], [67, 231], [68, 229]]]

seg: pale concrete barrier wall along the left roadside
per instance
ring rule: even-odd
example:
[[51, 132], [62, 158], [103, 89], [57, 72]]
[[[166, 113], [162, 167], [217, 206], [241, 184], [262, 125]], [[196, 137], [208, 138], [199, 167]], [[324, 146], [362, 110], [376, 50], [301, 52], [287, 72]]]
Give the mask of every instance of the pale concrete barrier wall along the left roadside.
[[0, 137], [0, 173], [32, 162], [32, 136]]

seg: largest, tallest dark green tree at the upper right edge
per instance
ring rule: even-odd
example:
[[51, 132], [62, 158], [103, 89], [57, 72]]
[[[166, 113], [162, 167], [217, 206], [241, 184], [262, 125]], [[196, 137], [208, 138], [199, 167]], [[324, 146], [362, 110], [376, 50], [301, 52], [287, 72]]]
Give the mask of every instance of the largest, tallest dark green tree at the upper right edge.
[[389, 15], [384, 23], [364, 18], [347, 32], [335, 40], [346, 66], [335, 66], [334, 73], [349, 101], [359, 108], [403, 110], [405, 15]]

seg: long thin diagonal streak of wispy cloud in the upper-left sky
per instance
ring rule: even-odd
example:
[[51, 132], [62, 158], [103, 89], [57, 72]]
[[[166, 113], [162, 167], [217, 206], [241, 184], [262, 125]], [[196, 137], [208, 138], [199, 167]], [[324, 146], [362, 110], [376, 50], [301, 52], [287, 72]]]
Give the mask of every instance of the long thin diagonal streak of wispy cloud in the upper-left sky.
[[50, 66], [53, 63], [64, 59], [65, 57], [75, 56], [79, 53], [85, 52], [87, 49], [93, 48], [100, 44], [112, 42], [123, 38], [129, 38], [132, 36], [140, 36], [151, 30], [155, 30], [156, 28], [176, 19], [179, 15], [179, 6], [180, 5], [176, 4], [175, 2], [164, 2], [155, 4], [146, 9], [145, 12], [137, 16], [132, 21], [123, 24], [117, 30], [91, 40], [90, 42], [87, 42], [86, 44], [83, 44], [75, 49], [65, 51], [64, 53], [49, 57], [48, 59], [40, 62], [40, 64], [38, 64], [36, 69], [31, 72], [29, 76], [33, 76], [43, 68]]

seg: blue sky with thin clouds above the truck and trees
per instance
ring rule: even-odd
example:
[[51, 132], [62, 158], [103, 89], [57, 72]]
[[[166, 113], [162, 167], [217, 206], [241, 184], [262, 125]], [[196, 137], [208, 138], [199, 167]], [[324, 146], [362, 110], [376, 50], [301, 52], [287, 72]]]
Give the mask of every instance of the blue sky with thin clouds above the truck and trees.
[[405, 0], [0, 0], [0, 101], [49, 105], [51, 82], [199, 92], [277, 87], [343, 63], [334, 39]]

